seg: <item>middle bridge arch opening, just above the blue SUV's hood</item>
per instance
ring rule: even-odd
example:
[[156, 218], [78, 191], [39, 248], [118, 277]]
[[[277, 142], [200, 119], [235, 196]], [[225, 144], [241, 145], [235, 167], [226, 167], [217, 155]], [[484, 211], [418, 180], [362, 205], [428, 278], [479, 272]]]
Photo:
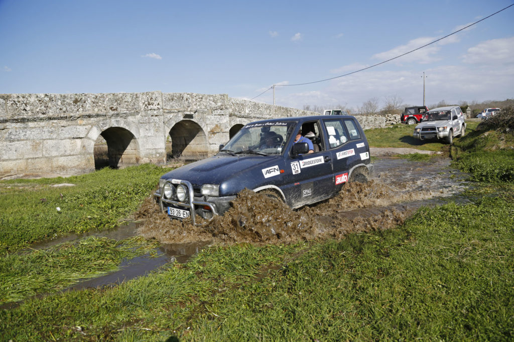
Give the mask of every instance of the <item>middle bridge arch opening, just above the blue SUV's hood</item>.
[[182, 120], [170, 130], [171, 142], [166, 144], [166, 159], [196, 161], [208, 157], [209, 143], [205, 131], [196, 122]]

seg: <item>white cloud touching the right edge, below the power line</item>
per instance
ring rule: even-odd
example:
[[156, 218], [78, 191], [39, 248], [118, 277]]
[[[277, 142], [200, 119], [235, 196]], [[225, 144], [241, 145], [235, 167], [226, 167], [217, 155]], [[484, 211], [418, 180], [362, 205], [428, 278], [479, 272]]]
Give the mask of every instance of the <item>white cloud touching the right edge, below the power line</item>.
[[514, 64], [514, 37], [481, 42], [469, 48], [462, 60], [469, 64]]

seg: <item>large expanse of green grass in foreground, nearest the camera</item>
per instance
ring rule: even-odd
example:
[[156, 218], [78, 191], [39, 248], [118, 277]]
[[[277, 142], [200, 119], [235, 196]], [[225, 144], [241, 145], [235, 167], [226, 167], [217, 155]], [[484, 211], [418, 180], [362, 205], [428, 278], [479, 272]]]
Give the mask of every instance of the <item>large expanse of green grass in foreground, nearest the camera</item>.
[[16, 340], [511, 340], [513, 204], [486, 197], [422, 208], [398, 229], [341, 241], [211, 248], [113, 289], [1, 311], [0, 332]]

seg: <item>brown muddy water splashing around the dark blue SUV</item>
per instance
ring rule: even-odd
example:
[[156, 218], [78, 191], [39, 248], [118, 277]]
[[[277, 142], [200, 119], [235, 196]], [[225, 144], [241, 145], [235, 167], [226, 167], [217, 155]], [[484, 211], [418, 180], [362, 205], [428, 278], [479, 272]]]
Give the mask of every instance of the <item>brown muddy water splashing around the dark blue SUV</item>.
[[118, 240], [135, 235], [157, 239], [161, 246], [156, 257], [145, 255], [125, 260], [119, 271], [80, 282], [70, 289], [114, 286], [170, 262], [187, 262], [208, 245], [341, 239], [352, 232], [391, 229], [421, 206], [435, 206], [448, 200], [465, 202], [459, 194], [469, 186], [464, 181], [466, 175], [449, 164], [450, 159], [445, 157], [423, 162], [381, 158], [374, 162], [368, 183], [347, 183], [336, 197], [299, 210], [291, 210], [261, 194], [243, 191], [225, 215], [202, 226], [192, 225], [190, 219], [170, 220], [149, 194], [135, 214], [137, 222], [112, 231], [68, 236], [32, 248], [46, 248], [90, 235]]

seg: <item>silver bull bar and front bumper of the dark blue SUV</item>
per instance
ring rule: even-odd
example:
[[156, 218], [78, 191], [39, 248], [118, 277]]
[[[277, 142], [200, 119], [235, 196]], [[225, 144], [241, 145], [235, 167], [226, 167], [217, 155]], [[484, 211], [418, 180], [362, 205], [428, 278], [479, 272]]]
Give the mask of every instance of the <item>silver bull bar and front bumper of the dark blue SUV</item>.
[[[183, 208], [188, 210], [193, 221], [196, 224], [196, 215], [204, 219], [211, 220], [215, 215], [223, 214], [230, 208], [230, 202], [233, 201], [236, 196], [224, 196], [224, 197], [213, 197], [213, 196], [194, 196], [193, 186], [190, 182], [178, 179], [168, 179], [166, 183], [172, 185], [186, 185], [188, 188], [188, 200], [186, 202], [180, 202], [178, 200], [166, 199], [163, 196], [161, 189], [158, 189], [155, 194], [155, 201], [159, 204], [161, 211], [164, 211], [168, 206]], [[170, 216], [170, 218], [176, 218]]]

